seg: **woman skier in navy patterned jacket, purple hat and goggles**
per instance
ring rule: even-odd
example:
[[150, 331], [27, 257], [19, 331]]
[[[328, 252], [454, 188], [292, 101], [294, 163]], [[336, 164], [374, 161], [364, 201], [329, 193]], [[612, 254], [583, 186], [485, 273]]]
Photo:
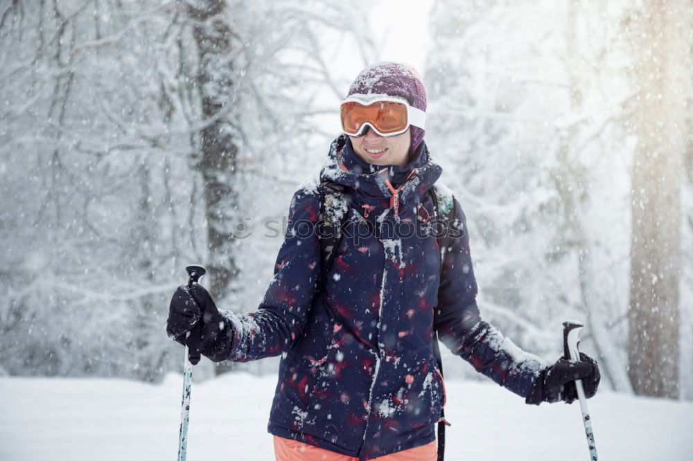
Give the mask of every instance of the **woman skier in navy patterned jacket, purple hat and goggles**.
[[[547, 365], [480, 318], [464, 213], [449, 190], [434, 187], [441, 167], [423, 142], [418, 74], [394, 62], [365, 69], [341, 115], [344, 134], [321, 173], [343, 198], [332, 204], [345, 214], [334, 259], [322, 257], [324, 194], [307, 183], [292, 199], [256, 312], [222, 315], [197, 284], [179, 287], [170, 306], [169, 336], [184, 343], [199, 321], [202, 353], [213, 361], [282, 354], [268, 426], [277, 460], [435, 460], [445, 396], [434, 332], [528, 404], [572, 402], [570, 384], [580, 378], [594, 395], [593, 359]], [[459, 232], [441, 251], [431, 230], [444, 214], [457, 224], [448, 231]]]

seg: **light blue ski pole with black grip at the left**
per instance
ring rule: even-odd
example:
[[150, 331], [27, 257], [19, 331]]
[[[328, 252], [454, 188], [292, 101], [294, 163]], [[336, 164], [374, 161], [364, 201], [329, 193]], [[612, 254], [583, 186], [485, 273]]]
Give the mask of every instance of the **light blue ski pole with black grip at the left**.
[[[187, 266], [188, 288], [193, 287], [207, 271], [202, 266]], [[200, 325], [195, 325], [186, 335], [184, 369], [183, 369], [183, 399], [180, 408], [180, 430], [178, 433], [178, 461], [185, 461], [188, 453], [188, 418], [190, 417], [190, 388], [193, 381], [193, 365], [200, 361]], [[190, 347], [188, 347], [190, 345]]]

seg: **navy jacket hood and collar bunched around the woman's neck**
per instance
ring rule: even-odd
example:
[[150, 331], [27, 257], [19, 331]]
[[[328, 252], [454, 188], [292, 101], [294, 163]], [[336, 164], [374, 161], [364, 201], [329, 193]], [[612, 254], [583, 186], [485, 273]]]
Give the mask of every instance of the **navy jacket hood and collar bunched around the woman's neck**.
[[421, 143], [405, 167], [390, 165], [370, 172], [374, 165], [359, 161], [357, 157], [347, 135], [340, 135], [330, 146], [320, 180], [351, 188], [359, 201], [367, 204], [389, 199], [395, 211], [419, 201], [443, 171], [440, 165], [430, 159], [426, 143]]

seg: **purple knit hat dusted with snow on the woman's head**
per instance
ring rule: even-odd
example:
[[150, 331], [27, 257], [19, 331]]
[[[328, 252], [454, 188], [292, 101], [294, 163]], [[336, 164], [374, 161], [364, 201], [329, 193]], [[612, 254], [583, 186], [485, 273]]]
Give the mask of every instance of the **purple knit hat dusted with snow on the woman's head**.
[[[426, 88], [421, 75], [412, 66], [401, 62], [383, 61], [363, 69], [349, 87], [347, 98], [355, 94], [398, 96], [405, 98], [410, 106], [426, 111]], [[410, 125], [409, 133], [412, 137], [409, 152], [416, 152], [426, 131]]]

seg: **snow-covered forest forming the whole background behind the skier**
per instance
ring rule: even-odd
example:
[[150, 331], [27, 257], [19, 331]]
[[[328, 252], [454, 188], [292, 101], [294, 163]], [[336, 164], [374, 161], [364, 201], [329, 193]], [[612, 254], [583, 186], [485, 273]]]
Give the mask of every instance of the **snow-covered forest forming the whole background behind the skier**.
[[[0, 374], [180, 372], [187, 264], [222, 309], [256, 309], [340, 99], [390, 58], [374, 4], [400, 3], [1, 0]], [[692, 6], [429, 3], [407, 32], [428, 31], [426, 141], [482, 315], [547, 360], [585, 320], [602, 386], [693, 399]], [[277, 361], [195, 379], [234, 370]]]

